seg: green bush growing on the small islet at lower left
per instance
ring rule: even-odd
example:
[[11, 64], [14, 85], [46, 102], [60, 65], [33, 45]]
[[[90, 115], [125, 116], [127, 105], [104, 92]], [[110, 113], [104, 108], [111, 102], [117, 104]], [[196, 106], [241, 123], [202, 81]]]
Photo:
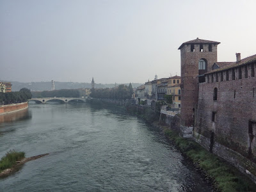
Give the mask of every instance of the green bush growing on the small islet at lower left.
[[0, 173], [7, 168], [12, 168], [13, 166], [15, 166], [15, 164], [17, 164], [16, 161], [20, 161], [24, 157], [24, 152], [16, 152], [15, 150], [10, 150], [0, 160]]

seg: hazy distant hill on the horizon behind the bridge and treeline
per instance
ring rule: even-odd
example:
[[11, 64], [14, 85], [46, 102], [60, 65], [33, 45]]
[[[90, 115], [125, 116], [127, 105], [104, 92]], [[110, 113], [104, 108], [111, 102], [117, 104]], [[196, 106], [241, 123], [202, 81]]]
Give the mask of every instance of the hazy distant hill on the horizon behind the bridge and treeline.
[[[49, 91], [51, 90], [51, 81], [47, 82], [31, 82], [31, 83], [21, 83], [18, 81], [4, 81], [0, 80], [3, 82], [11, 82], [12, 83], [12, 91], [13, 92], [18, 92], [21, 88], [28, 88], [32, 92], [42, 92], [42, 91]], [[122, 83], [129, 85], [129, 83]], [[61, 90], [61, 89], [78, 89], [78, 88], [91, 88], [92, 84], [91, 83], [77, 83], [77, 82], [54, 82], [55, 89], [56, 90]], [[117, 86], [118, 84], [95, 84], [95, 88], [112, 88]], [[136, 88], [140, 86], [141, 83], [132, 83], [132, 87]]]

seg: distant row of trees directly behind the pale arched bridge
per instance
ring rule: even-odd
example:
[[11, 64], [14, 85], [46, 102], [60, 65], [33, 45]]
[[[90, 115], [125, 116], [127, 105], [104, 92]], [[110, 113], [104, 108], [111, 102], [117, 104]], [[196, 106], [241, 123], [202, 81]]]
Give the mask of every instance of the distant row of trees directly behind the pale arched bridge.
[[31, 92], [33, 98], [42, 97], [79, 97], [79, 90], [53, 90], [44, 92]]

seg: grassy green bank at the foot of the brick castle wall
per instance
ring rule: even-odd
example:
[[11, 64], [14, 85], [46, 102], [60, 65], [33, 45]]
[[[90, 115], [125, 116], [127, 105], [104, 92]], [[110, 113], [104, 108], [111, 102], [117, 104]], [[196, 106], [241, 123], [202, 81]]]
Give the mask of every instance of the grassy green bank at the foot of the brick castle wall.
[[164, 134], [177, 145], [180, 151], [193, 161], [196, 167], [212, 180], [217, 191], [255, 191], [254, 184], [236, 168], [211, 154], [193, 140], [180, 138], [179, 134], [168, 127], [161, 126]]

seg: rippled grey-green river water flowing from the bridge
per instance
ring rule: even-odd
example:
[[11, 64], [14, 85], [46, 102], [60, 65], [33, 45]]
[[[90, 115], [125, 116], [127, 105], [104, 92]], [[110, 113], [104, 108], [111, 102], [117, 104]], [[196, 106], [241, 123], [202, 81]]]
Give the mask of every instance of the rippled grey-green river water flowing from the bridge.
[[29, 161], [0, 191], [211, 191], [159, 130], [136, 116], [91, 104], [29, 104], [0, 117], [0, 157]]

